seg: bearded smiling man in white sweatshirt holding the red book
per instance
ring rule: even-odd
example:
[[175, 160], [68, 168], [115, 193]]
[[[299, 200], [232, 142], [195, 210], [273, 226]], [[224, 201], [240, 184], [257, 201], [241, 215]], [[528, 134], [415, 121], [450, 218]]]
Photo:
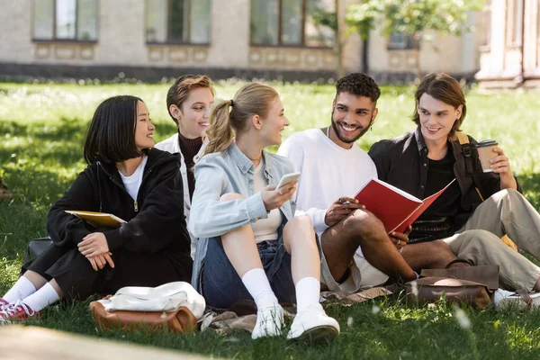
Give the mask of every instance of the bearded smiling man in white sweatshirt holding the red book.
[[[375, 121], [381, 91], [370, 76], [353, 73], [338, 80], [331, 124], [304, 130], [278, 150], [302, 172], [297, 208], [311, 217], [324, 253], [321, 282], [331, 291], [354, 292], [362, 286], [409, 281], [416, 273], [401, 257], [405, 234], [386, 234], [383, 223], [354, 198], [370, 177], [372, 159], [355, 141]], [[434, 258], [455, 258], [448, 249]]]

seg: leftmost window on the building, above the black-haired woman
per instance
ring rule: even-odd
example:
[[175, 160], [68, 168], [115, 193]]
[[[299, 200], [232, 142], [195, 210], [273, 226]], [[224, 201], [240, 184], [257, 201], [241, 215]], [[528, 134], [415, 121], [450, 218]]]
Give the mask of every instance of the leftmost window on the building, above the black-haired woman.
[[34, 0], [34, 40], [97, 40], [97, 0]]

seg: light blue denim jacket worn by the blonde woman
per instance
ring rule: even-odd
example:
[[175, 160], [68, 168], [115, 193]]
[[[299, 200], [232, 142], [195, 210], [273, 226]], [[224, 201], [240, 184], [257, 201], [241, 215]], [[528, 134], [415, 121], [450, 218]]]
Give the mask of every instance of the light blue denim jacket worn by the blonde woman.
[[[263, 151], [265, 159], [264, 174], [268, 184], [277, 184], [284, 174], [294, 171], [293, 164], [286, 158]], [[266, 219], [265, 203], [261, 193], [254, 193], [255, 167], [232, 143], [220, 153], [212, 153], [195, 165], [195, 192], [188, 228], [197, 242], [197, 251], [193, 261], [192, 284], [201, 291], [200, 275], [204, 266], [204, 257], [208, 241], [233, 229], [250, 224], [255, 230], [255, 221]], [[244, 199], [220, 202], [225, 193], [239, 193]], [[283, 213], [282, 226], [291, 220], [296, 210], [293, 201], [285, 202], [280, 208]]]

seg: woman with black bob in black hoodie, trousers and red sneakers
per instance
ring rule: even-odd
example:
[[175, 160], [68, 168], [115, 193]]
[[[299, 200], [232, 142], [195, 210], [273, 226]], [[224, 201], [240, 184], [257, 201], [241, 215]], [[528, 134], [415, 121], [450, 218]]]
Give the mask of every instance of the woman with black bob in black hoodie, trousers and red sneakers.
[[[85, 140], [89, 165], [49, 211], [53, 244], [23, 266], [0, 299], [0, 320], [40, 315], [61, 298], [189, 281], [180, 164], [153, 148], [154, 130], [138, 97], [115, 96], [97, 107]], [[128, 222], [96, 229], [67, 210], [103, 211]]]

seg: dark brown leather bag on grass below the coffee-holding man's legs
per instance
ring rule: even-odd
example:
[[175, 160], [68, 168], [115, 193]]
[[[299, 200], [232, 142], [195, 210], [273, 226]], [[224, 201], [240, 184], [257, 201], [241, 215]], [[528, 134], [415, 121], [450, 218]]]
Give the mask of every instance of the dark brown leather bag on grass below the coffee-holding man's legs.
[[485, 309], [499, 288], [499, 266], [464, 266], [449, 269], [424, 269], [420, 278], [405, 284], [409, 302], [436, 302], [443, 293], [446, 301], [468, 303]]

